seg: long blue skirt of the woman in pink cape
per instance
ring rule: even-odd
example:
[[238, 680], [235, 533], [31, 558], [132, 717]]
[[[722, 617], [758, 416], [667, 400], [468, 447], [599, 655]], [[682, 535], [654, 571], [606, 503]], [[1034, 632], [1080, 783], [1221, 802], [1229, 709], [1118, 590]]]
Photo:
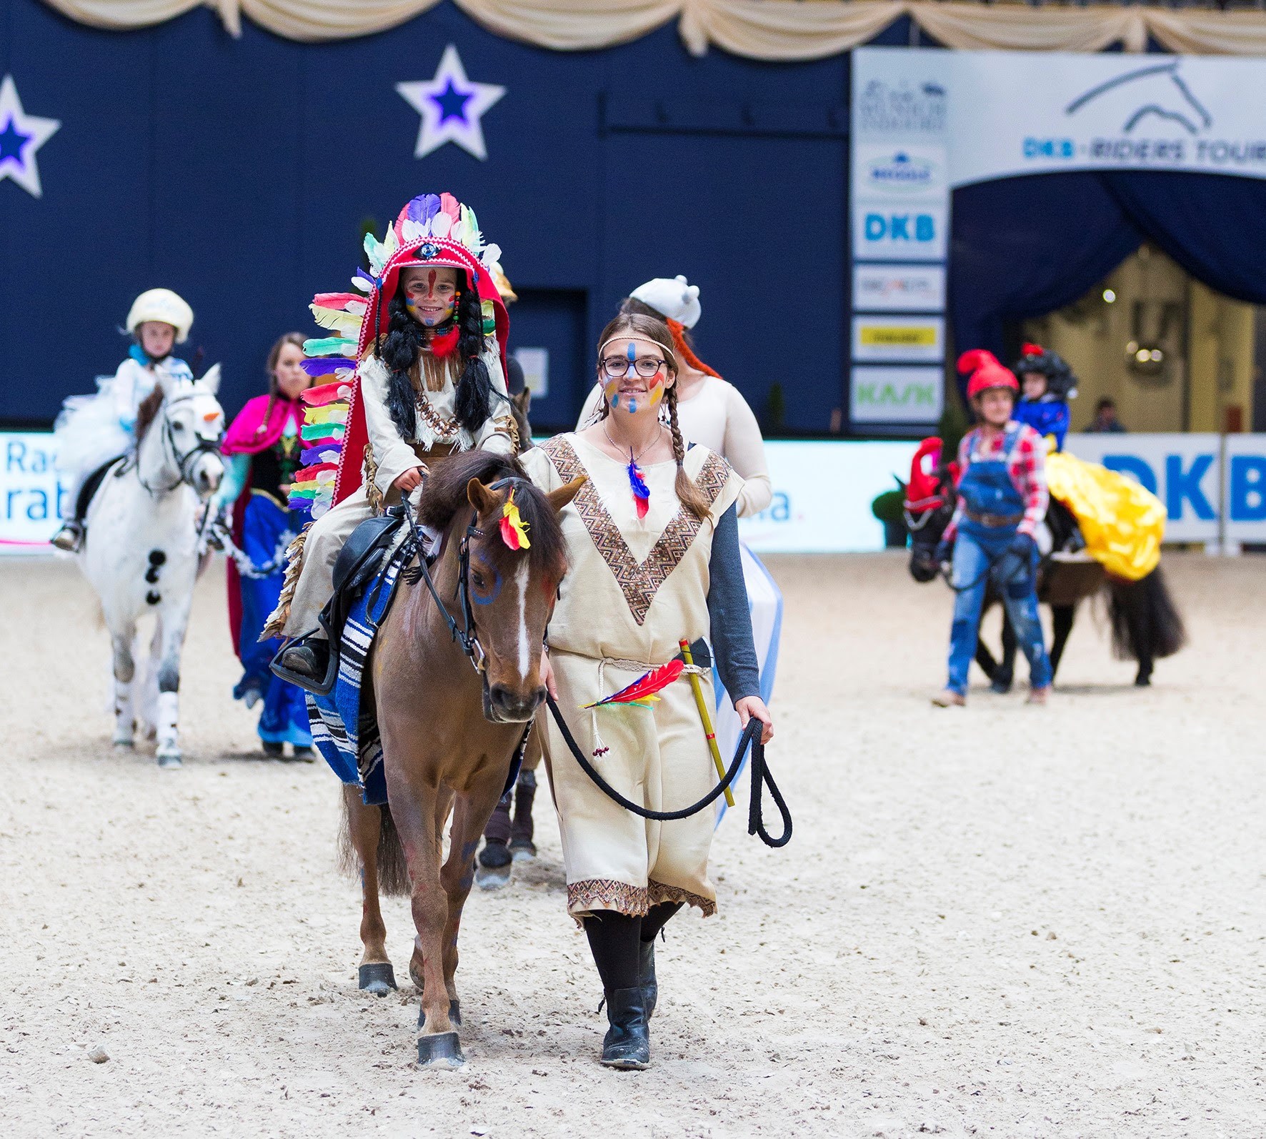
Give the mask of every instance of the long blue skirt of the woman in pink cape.
[[[301, 521], [287, 514], [266, 495], [251, 495], [242, 520], [242, 549], [256, 566], [266, 566], [276, 557], [277, 544], [290, 532], [296, 534]], [[265, 743], [289, 743], [296, 748], [310, 748], [311, 731], [308, 728], [308, 705], [304, 691], [279, 680], [268, 671], [268, 663], [281, 648], [280, 638], [261, 642], [260, 632], [268, 614], [277, 607], [285, 568], [267, 577], [243, 577], [242, 629], [238, 634], [238, 658], [242, 661], [242, 680], [233, 690], [234, 700], [243, 700], [251, 692], [263, 697], [260, 715], [260, 739]]]

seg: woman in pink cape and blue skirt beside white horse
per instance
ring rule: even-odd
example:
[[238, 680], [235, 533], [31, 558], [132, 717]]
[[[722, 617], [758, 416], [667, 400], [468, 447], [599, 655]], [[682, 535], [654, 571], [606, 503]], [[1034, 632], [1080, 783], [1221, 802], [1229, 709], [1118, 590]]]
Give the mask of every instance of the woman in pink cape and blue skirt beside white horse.
[[286, 333], [272, 345], [268, 394], [247, 402], [224, 437], [222, 451], [228, 467], [216, 504], [232, 509], [238, 548], [228, 562], [229, 629], [233, 650], [242, 662], [242, 680], [233, 699], [247, 707], [263, 701], [258, 731], [265, 754], [281, 756], [289, 743], [296, 759], [311, 761], [304, 692], [268, 669], [280, 639], [258, 639], [277, 605], [286, 547], [308, 521], [305, 513], [286, 505], [303, 451], [300, 396], [313, 382], [303, 370], [303, 344], [301, 333]]

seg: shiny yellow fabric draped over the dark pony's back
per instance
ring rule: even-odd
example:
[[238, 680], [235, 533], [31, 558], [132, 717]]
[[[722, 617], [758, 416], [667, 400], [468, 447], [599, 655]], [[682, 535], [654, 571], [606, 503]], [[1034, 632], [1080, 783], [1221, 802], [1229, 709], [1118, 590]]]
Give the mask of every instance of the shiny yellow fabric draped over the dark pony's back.
[[1086, 553], [1113, 577], [1138, 581], [1161, 561], [1165, 506], [1133, 478], [1066, 451], [1046, 457], [1051, 495], [1077, 519]]

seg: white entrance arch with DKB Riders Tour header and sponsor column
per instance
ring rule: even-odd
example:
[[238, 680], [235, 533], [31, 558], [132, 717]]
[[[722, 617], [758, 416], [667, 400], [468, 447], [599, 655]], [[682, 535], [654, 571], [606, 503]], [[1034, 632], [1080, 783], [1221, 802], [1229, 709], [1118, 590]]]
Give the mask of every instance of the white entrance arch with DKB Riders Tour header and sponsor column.
[[853, 423], [941, 414], [953, 187], [1074, 170], [1266, 178], [1266, 59], [910, 48], [852, 59]]

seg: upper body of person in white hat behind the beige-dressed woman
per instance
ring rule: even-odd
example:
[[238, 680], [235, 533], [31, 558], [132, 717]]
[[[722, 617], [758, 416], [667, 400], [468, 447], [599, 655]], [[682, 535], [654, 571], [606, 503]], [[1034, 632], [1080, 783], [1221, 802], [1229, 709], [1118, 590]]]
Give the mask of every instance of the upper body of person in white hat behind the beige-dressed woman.
[[[695, 356], [689, 330], [703, 315], [699, 286], [682, 276], [655, 277], [628, 295], [620, 304], [620, 313], [641, 313], [667, 323], [681, 361], [677, 378], [681, 433], [691, 443], [723, 456], [742, 476], [744, 485], [737, 504], [738, 516], [760, 514], [774, 497], [765, 440], [742, 392]], [[577, 428], [595, 421], [601, 399], [603, 390], [595, 385], [580, 413]]]

